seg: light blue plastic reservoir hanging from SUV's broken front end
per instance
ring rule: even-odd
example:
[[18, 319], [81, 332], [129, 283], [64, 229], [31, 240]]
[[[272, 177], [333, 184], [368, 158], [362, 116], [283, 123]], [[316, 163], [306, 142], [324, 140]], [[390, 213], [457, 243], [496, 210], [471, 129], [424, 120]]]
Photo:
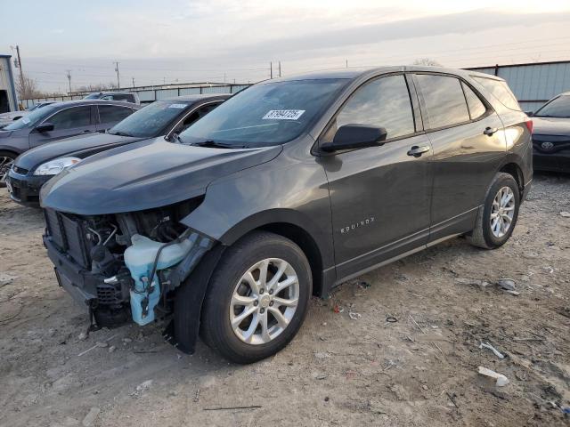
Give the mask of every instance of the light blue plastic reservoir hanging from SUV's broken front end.
[[191, 236], [181, 243], [169, 246], [138, 234], [131, 238], [133, 245], [126, 248], [125, 264], [134, 280], [134, 289], [130, 291], [131, 314], [134, 322], [144, 326], [155, 318], [154, 308], [160, 300], [160, 286], [157, 275], [155, 274], [152, 281], [150, 275], [160, 247], [165, 246], [160, 253], [157, 273], [181, 262], [191, 250], [196, 238]]

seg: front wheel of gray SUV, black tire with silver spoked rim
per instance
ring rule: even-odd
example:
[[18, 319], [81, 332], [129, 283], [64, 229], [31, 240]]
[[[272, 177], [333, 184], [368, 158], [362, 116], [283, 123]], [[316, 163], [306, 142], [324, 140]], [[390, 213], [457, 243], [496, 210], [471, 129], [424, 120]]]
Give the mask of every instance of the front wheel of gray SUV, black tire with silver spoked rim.
[[252, 233], [218, 262], [202, 309], [202, 338], [233, 362], [265, 359], [297, 334], [312, 286], [311, 268], [295, 243]]

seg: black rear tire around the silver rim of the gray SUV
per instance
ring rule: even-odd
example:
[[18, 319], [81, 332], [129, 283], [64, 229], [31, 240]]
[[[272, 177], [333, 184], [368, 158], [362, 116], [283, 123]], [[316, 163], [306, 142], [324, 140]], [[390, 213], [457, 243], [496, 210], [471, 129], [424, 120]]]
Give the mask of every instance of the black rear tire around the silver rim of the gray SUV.
[[[491, 213], [493, 209], [493, 199], [503, 187], [509, 187], [509, 189], [513, 191], [515, 207], [509, 230], [507, 230], [503, 236], [497, 237], [493, 234], [491, 228]], [[482, 247], [484, 249], [496, 249], [497, 247], [503, 246], [507, 240], [509, 240], [513, 230], [515, 230], [519, 207], [520, 189], [518, 188], [517, 181], [515, 181], [513, 176], [509, 173], [497, 173], [489, 189], [487, 189], [485, 204], [479, 208], [479, 212], [477, 213], [475, 229], [467, 236], [468, 242], [473, 246]]]

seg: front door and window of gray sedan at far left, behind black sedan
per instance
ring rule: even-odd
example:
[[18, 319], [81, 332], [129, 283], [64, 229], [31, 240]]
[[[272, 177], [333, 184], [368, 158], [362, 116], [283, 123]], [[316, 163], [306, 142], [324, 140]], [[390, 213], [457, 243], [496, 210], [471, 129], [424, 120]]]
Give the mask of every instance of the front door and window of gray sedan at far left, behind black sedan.
[[53, 131], [39, 133], [34, 130], [29, 133], [29, 146], [34, 148], [45, 142], [58, 141], [70, 136], [94, 132], [95, 125], [92, 116], [92, 107], [90, 105], [61, 109], [42, 121], [42, 124], [51, 123]]

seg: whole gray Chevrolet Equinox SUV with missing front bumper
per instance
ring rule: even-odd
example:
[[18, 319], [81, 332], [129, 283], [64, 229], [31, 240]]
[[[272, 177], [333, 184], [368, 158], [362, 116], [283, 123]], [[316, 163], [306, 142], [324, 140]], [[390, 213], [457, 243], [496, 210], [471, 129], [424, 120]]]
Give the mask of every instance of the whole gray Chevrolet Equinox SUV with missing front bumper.
[[178, 349], [200, 334], [253, 362], [293, 339], [311, 295], [448, 238], [504, 245], [533, 179], [531, 129], [504, 80], [472, 71], [269, 80], [178, 143], [110, 149], [48, 181], [44, 243], [99, 326], [167, 318]]

